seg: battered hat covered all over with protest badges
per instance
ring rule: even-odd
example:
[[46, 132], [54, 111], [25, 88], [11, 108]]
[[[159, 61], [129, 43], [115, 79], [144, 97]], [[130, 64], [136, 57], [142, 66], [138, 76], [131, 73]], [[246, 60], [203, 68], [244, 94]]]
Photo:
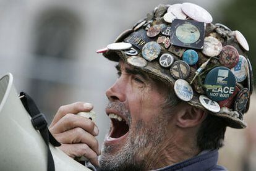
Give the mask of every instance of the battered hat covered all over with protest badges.
[[97, 52], [159, 78], [229, 127], [245, 128], [253, 85], [249, 45], [240, 31], [212, 21], [192, 3], [160, 5]]

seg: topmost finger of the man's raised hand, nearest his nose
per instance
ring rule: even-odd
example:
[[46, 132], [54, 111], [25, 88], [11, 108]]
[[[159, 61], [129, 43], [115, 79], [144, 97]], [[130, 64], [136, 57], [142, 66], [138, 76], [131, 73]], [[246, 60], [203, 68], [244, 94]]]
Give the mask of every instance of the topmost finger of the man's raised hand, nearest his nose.
[[58, 122], [66, 114], [77, 114], [78, 112], [90, 112], [93, 109], [93, 105], [90, 103], [84, 102], [74, 102], [72, 104], [67, 104], [65, 106], [59, 107], [58, 112], [56, 113], [53, 122], [49, 127], [52, 127], [56, 122]]

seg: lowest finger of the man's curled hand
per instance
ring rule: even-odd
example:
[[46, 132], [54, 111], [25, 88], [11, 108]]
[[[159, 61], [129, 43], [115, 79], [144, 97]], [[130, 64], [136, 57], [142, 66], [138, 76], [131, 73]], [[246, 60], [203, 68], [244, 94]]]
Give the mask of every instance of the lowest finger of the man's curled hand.
[[90, 149], [87, 144], [62, 144], [59, 149], [64, 151], [68, 156], [72, 157], [81, 157], [85, 156], [93, 165], [99, 165], [98, 156], [96, 152]]

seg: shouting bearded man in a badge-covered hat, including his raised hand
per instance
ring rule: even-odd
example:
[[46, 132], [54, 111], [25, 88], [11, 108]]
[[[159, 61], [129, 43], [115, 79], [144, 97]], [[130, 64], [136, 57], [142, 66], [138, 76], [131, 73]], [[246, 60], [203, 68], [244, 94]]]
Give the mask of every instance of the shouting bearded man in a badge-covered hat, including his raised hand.
[[60, 107], [51, 133], [70, 157], [103, 170], [226, 170], [218, 166], [226, 127], [245, 128], [252, 93], [249, 46], [213, 25], [202, 7], [160, 5], [98, 52], [118, 62], [106, 91], [111, 126], [102, 151], [92, 104]]

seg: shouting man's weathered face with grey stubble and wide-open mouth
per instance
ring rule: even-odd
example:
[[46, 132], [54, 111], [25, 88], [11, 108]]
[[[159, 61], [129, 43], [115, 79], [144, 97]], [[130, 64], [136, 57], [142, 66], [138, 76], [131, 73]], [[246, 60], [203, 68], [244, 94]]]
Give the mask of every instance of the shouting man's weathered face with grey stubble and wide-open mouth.
[[[106, 170], [145, 169], [161, 145], [168, 120], [163, 104], [167, 88], [120, 60], [119, 78], [106, 91], [111, 118], [100, 165]], [[174, 96], [174, 99], [176, 97]]]

